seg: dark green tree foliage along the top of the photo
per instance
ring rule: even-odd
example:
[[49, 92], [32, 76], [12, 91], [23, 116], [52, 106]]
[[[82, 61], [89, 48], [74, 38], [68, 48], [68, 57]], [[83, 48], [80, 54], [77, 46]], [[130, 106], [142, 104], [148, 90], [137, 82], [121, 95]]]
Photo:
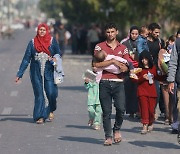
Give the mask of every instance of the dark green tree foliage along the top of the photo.
[[39, 7], [49, 17], [63, 12], [72, 24], [116, 22], [122, 32], [131, 25], [170, 22], [174, 28], [180, 23], [179, 0], [40, 0]]

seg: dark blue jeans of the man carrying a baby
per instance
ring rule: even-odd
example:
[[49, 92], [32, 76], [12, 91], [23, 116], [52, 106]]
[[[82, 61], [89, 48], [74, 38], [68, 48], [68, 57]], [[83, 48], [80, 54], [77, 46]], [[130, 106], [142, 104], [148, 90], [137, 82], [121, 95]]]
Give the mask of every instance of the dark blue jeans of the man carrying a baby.
[[116, 109], [113, 131], [119, 131], [123, 123], [125, 112], [124, 83], [101, 80], [99, 83], [99, 99], [103, 111], [105, 138], [112, 137], [111, 114], [113, 101]]

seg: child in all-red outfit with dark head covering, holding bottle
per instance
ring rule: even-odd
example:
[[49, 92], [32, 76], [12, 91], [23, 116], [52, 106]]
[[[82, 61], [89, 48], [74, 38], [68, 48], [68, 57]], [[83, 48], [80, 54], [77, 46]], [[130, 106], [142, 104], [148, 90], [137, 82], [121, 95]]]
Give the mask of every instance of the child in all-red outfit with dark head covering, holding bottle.
[[165, 76], [157, 74], [157, 69], [153, 65], [152, 57], [148, 51], [143, 51], [139, 55], [139, 67], [142, 68], [142, 71], [137, 74], [138, 79], [133, 79], [133, 81], [138, 83], [137, 96], [139, 100], [141, 122], [143, 124], [141, 134], [146, 134], [148, 131], [150, 132], [153, 130], [157, 99], [154, 79], [163, 80]]

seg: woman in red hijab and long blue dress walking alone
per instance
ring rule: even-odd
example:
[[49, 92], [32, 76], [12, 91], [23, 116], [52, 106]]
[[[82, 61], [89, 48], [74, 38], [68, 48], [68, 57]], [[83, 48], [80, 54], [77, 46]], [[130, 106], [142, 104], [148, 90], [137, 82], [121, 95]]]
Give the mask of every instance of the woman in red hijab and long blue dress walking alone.
[[56, 39], [51, 37], [48, 26], [42, 23], [38, 26], [37, 35], [27, 46], [15, 79], [18, 83], [30, 63], [30, 79], [35, 96], [33, 119], [37, 124], [44, 123], [47, 118], [54, 118], [58, 96], [52, 65], [56, 62], [53, 58], [55, 54], [60, 57], [59, 46]]

